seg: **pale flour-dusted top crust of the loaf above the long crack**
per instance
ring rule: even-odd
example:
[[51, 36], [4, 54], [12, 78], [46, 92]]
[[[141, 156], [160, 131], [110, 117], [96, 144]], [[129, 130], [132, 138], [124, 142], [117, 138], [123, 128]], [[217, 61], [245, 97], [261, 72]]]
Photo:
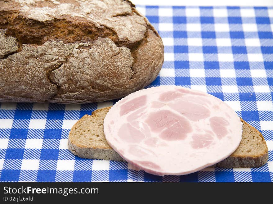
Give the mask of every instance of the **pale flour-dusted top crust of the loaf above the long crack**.
[[97, 27], [106, 26], [114, 29], [119, 40], [131, 42], [140, 41], [146, 32], [147, 24], [144, 17], [133, 13], [131, 5], [125, 1], [76, 0], [74, 3], [69, 1], [60, 3], [57, 0], [14, 1], [20, 3], [22, 15], [41, 22], [62, 19], [64, 16], [79, 17], [91, 21]]

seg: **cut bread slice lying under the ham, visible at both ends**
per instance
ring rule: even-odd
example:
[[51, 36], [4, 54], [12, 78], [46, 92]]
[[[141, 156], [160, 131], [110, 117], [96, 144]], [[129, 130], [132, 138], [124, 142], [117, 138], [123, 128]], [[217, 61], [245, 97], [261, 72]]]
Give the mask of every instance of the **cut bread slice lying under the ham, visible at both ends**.
[[[111, 107], [105, 107], [85, 115], [71, 128], [68, 138], [70, 151], [83, 158], [124, 161], [107, 143], [103, 120]], [[241, 119], [242, 140], [236, 151], [217, 163], [224, 168], [252, 168], [264, 165], [268, 160], [268, 149], [262, 134]]]

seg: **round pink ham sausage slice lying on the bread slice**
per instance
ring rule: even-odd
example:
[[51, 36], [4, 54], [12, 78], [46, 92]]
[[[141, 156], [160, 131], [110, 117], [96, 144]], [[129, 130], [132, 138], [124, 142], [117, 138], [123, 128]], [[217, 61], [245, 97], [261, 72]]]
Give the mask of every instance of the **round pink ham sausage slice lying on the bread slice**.
[[109, 145], [136, 169], [154, 175], [185, 175], [232, 154], [242, 122], [223, 101], [179, 86], [131, 93], [104, 119]]

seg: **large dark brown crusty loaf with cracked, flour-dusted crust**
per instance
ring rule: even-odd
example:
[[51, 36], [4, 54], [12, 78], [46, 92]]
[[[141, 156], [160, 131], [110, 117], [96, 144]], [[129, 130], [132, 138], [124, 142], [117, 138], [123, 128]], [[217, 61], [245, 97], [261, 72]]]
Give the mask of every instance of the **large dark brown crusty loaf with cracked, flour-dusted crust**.
[[0, 0], [0, 102], [87, 103], [150, 84], [163, 43], [127, 0]]

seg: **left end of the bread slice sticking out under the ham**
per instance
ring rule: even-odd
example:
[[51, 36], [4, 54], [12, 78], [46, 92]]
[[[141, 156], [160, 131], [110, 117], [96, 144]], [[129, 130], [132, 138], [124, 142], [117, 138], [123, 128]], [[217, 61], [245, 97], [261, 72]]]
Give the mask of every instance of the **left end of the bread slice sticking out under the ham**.
[[106, 142], [103, 120], [111, 107], [105, 107], [84, 115], [71, 128], [68, 136], [69, 150], [79, 157], [124, 161]]

